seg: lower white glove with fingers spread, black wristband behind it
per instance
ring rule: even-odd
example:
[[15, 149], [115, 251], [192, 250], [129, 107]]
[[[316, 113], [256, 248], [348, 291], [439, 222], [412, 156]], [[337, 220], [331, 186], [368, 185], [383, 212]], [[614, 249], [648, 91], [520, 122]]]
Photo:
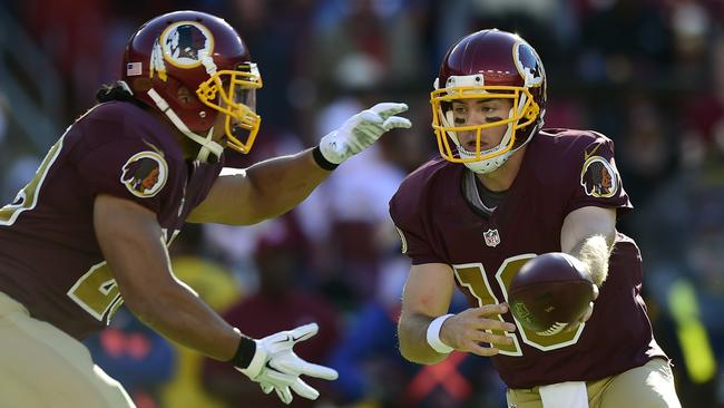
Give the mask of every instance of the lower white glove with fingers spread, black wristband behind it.
[[316, 399], [320, 392], [302, 381], [300, 376], [311, 376], [325, 380], [335, 380], [337, 372], [329, 367], [313, 365], [299, 358], [292, 348], [299, 341], [306, 340], [320, 330], [316, 323], [301, 326], [294, 330], [280, 331], [254, 340], [256, 352], [248, 367], [242, 371], [261, 385], [264, 394], [276, 391], [282, 402], [292, 402], [292, 391], [307, 399]]

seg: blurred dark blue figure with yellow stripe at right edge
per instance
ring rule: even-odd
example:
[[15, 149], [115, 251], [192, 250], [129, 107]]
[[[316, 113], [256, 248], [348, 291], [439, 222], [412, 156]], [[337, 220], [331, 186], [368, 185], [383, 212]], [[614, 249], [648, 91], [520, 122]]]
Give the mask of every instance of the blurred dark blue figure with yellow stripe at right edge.
[[[674, 370], [684, 406], [724, 406], [722, 361], [724, 361], [724, 163], [702, 159], [683, 168], [652, 194], [633, 227], [648, 252], [649, 303], [658, 310], [654, 328], [663, 332], [663, 343], [672, 350]], [[681, 281], [691, 282], [695, 298], [678, 304], [672, 291]], [[695, 311], [692, 311], [695, 308]], [[692, 342], [681, 330], [685, 322], [701, 324], [702, 333]], [[684, 336], [684, 337], [683, 337]], [[698, 356], [697, 356], [698, 353]], [[715, 361], [706, 361], [712, 358]], [[703, 360], [702, 360], [703, 359]], [[714, 365], [714, 372], [697, 367]], [[718, 367], [717, 367], [718, 366]]]

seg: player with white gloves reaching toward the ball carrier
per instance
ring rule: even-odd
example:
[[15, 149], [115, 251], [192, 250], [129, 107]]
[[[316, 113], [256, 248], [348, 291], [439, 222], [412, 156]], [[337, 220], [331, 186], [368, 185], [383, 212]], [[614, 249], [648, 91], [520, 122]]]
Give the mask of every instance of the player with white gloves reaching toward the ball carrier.
[[185, 222], [245, 225], [287, 212], [382, 134], [410, 127], [395, 116], [407, 106], [375, 105], [314, 148], [219, 175], [225, 147], [247, 153], [261, 120], [260, 70], [228, 23], [196, 11], [149, 20], [127, 45], [121, 79], [0, 208], [0, 406], [133, 406], [79, 342], [124, 302], [264, 392], [315, 399], [300, 376], [336, 372], [293, 347], [316, 324], [242, 334], [175, 279], [167, 245]]

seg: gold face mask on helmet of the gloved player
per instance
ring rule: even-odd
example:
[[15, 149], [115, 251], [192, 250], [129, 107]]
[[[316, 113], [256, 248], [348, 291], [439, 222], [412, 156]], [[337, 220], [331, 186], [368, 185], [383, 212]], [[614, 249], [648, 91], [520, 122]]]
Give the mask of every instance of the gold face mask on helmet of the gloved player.
[[[262, 87], [262, 76], [256, 64], [239, 65], [236, 70], [221, 70], [196, 89], [204, 105], [226, 116], [224, 130], [226, 146], [248, 153], [256, 139], [261, 116], [256, 115], [256, 89]], [[246, 133], [242, 140], [239, 133]]]

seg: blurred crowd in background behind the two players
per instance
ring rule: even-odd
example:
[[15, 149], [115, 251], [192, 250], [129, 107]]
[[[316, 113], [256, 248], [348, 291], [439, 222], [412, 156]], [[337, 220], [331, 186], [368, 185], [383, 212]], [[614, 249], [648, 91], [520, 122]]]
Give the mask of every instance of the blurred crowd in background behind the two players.
[[[236, 167], [314, 146], [373, 103], [410, 105], [412, 129], [341, 166], [292, 213], [251, 227], [187, 225], [172, 245], [178, 278], [245, 333], [320, 323], [299, 353], [340, 379], [293, 406], [505, 406], [488, 359], [456, 352], [421, 367], [400, 357], [409, 262], [388, 215], [405, 174], [437, 154], [429, 93], [444, 52], [497, 27], [542, 58], [547, 127], [616, 142], [636, 207], [619, 230], [642, 247], [644, 293], [682, 402], [724, 407], [724, 1], [1, 0], [4, 202], [99, 85], [118, 79], [135, 29], [179, 9], [225, 18], [262, 71], [262, 130], [251, 155], [231, 158]], [[140, 408], [282, 406], [128, 312], [87, 344]]]

